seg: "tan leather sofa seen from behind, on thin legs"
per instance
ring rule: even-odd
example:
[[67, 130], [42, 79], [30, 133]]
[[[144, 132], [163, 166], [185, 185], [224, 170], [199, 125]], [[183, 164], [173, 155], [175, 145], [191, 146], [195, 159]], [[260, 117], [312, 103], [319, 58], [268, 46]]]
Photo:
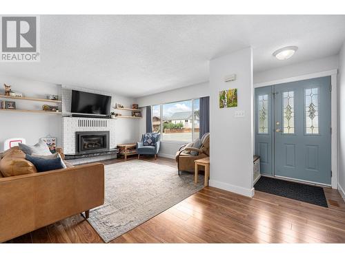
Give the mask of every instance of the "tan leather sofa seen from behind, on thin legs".
[[[61, 149], [59, 152], [64, 157]], [[22, 155], [18, 149], [10, 153]], [[9, 155], [4, 153], [0, 157], [0, 164], [6, 154]], [[3, 177], [0, 171], [0, 242], [84, 211], [88, 217], [91, 208], [104, 202], [101, 163], [37, 173], [33, 165], [23, 169], [20, 157], [17, 164], [13, 160], [9, 163], [13, 165], [13, 173], [22, 169], [21, 175]]]

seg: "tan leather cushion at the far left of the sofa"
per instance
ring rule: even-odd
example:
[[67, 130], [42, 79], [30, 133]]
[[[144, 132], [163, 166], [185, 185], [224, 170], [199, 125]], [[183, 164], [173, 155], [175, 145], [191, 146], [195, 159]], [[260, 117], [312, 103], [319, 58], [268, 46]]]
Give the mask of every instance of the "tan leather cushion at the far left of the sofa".
[[37, 173], [37, 169], [30, 161], [25, 159], [25, 153], [18, 147], [5, 151], [0, 160], [0, 171], [3, 177]]

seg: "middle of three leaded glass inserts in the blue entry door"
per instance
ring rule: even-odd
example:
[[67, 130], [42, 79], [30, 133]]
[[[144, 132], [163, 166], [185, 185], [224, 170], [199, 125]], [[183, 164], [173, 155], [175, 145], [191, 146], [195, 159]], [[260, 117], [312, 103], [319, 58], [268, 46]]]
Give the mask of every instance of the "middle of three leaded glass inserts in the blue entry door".
[[283, 133], [295, 133], [295, 108], [293, 92], [283, 92]]

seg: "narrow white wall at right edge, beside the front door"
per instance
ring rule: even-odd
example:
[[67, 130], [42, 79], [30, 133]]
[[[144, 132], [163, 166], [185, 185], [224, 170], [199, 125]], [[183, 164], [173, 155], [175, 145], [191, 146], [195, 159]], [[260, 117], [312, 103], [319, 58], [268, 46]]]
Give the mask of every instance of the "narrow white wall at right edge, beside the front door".
[[345, 43], [339, 53], [338, 82], [338, 189], [345, 200]]

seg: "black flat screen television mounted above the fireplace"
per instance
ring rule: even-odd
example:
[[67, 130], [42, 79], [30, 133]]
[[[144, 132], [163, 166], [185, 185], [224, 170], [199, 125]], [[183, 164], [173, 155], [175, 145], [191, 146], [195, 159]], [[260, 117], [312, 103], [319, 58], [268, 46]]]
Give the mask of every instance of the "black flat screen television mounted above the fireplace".
[[72, 113], [109, 116], [110, 105], [111, 96], [72, 90]]

